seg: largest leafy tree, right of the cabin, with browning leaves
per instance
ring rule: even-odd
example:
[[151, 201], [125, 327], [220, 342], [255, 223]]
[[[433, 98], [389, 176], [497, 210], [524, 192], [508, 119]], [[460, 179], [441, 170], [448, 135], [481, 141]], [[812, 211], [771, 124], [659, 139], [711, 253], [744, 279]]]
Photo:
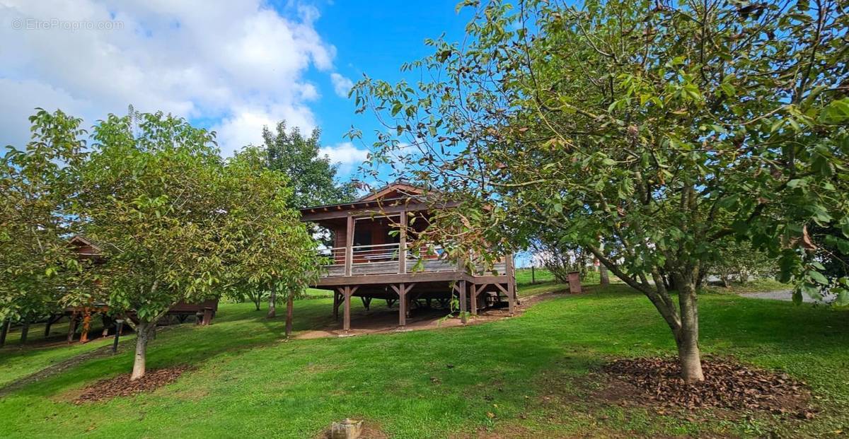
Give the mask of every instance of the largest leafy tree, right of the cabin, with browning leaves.
[[558, 231], [649, 298], [702, 381], [696, 285], [722, 240], [780, 256], [807, 291], [827, 282], [809, 225], [849, 225], [844, 7], [492, 1], [463, 46], [402, 66], [428, 81], [354, 95], [391, 130], [374, 164], [403, 150], [411, 180], [464, 203], [436, 228], [466, 247]]

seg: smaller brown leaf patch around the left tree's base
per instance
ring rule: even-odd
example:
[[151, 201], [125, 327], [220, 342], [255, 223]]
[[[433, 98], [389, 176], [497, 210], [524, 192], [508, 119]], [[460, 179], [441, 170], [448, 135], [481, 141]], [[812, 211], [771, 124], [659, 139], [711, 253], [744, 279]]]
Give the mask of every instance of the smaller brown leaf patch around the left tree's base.
[[121, 374], [87, 386], [74, 399], [74, 403], [94, 403], [113, 397], [129, 397], [137, 393], [152, 392], [161, 386], [166, 386], [176, 381], [187, 370], [191, 370], [191, 367], [188, 365], [149, 370], [143, 377], [136, 381], [130, 381], [130, 374]]

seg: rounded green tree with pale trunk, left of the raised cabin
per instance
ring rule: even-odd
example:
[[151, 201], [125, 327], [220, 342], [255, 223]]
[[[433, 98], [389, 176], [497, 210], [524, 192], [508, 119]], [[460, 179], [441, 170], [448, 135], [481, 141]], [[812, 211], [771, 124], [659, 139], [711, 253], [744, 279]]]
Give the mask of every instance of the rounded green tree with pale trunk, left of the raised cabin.
[[[76, 169], [73, 212], [102, 245], [106, 262], [92, 272], [110, 292], [110, 311], [135, 320], [131, 380], [144, 375], [149, 340], [172, 306], [244, 284], [245, 268], [255, 262], [245, 258], [279, 254], [260, 244], [310, 241], [291, 224], [296, 213], [284, 208], [279, 175], [254, 173], [240, 160], [225, 165], [214, 134], [184, 119], [134, 119], [110, 115], [94, 127], [92, 153]], [[292, 281], [307, 273], [278, 275]]]

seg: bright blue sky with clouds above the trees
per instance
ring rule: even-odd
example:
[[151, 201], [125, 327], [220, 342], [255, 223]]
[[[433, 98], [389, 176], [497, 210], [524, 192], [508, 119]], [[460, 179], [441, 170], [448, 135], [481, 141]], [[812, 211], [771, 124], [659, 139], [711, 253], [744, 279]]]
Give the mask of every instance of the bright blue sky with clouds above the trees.
[[[463, 36], [450, 1], [59, 0], [0, 3], [0, 145], [21, 147], [33, 108], [86, 127], [106, 114], [162, 110], [215, 130], [223, 155], [261, 127], [323, 130], [323, 153], [348, 178], [378, 125], [345, 97], [367, 74], [402, 79], [425, 38]], [[414, 79], [414, 78], [413, 78]]]

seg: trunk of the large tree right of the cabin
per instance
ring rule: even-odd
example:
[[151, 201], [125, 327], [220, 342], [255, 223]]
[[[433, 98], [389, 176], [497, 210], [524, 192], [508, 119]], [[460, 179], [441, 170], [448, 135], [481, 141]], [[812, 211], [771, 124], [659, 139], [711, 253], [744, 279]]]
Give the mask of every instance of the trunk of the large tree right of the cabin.
[[694, 281], [681, 281], [678, 291], [678, 305], [681, 308], [681, 328], [675, 334], [678, 345], [678, 359], [681, 362], [681, 378], [692, 383], [705, 381], [701, 371], [699, 351], [699, 303]]

